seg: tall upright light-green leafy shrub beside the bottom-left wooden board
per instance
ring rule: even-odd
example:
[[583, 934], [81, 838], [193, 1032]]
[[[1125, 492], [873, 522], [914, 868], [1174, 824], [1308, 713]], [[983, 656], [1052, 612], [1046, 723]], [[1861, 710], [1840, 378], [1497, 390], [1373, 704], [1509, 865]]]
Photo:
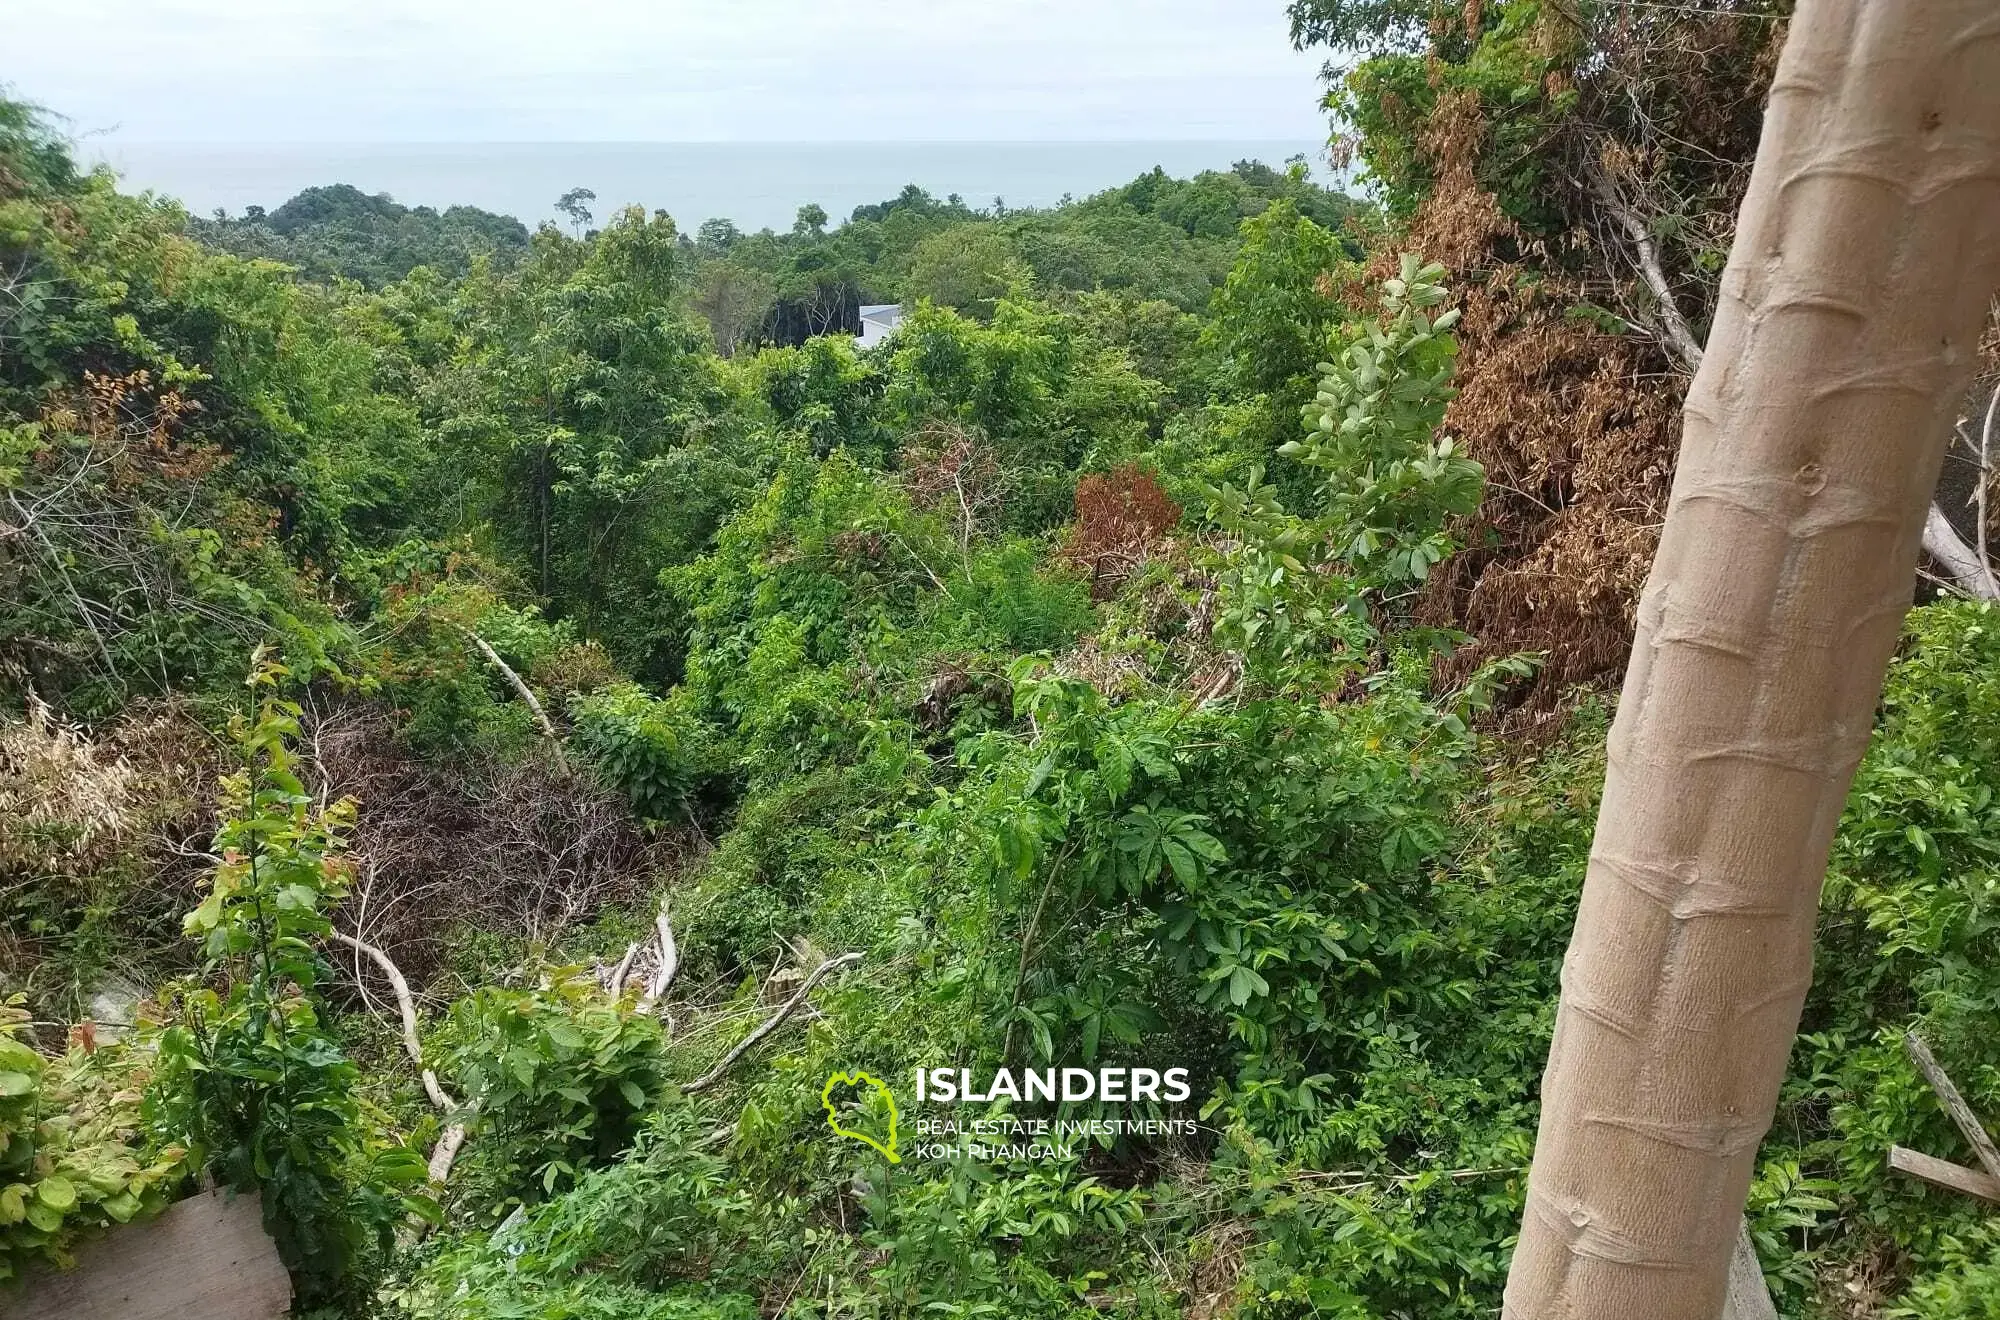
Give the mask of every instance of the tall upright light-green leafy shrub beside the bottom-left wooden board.
[[154, 1130], [184, 1142], [198, 1168], [262, 1192], [264, 1226], [302, 1300], [320, 1302], [366, 1282], [396, 1224], [436, 1208], [414, 1190], [424, 1156], [382, 1130], [322, 1020], [314, 944], [346, 888], [352, 804], [318, 808], [292, 772], [298, 706], [270, 694], [282, 676], [264, 662], [252, 672], [266, 696], [238, 720], [244, 768], [222, 786], [220, 864], [186, 920], [226, 988], [168, 994], [148, 1102]]

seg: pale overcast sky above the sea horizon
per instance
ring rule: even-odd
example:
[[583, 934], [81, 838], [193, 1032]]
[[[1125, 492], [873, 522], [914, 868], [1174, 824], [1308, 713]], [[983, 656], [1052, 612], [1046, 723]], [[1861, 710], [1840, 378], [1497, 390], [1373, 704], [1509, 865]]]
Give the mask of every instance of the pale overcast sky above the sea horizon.
[[0, 0], [130, 142], [1318, 140], [1284, 0]]

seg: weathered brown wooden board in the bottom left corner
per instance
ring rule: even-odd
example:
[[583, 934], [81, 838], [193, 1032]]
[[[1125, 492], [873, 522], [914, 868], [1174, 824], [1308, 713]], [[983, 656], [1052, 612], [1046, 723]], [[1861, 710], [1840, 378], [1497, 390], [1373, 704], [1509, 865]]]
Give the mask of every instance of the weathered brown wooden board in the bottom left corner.
[[292, 1278], [258, 1198], [224, 1192], [118, 1228], [78, 1250], [74, 1270], [0, 1298], [0, 1312], [22, 1320], [282, 1320], [288, 1310]]

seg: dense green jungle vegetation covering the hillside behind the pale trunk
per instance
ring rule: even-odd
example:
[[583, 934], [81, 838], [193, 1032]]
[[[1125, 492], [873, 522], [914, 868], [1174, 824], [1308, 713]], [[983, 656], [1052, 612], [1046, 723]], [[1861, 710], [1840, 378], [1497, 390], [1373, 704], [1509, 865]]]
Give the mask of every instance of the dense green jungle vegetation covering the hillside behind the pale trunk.
[[[1294, 0], [1346, 190], [756, 234], [190, 216], [0, 100], [0, 1280], [226, 1186], [314, 1320], [1498, 1314], [1788, 10]], [[1886, 1164], [1966, 1158], [1910, 1030], [2000, 1114], [2000, 586], [1912, 594], [1796, 1320], [2000, 1318]], [[1192, 1124], [918, 1158], [934, 1066]]]

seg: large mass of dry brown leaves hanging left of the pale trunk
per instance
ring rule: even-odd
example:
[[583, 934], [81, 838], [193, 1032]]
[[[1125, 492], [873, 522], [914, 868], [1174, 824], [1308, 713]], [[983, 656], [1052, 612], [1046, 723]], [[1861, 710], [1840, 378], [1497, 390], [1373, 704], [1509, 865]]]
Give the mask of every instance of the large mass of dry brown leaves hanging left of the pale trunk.
[[1648, 344], [1572, 316], [1574, 282], [1496, 256], [1532, 244], [1474, 178], [1482, 132], [1476, 98], [1440, 98], [1428, 136], [1438, 184], [1404, 240], [1462, 288], [1444, 428], [1488, 480], [1460, 528], [1466, 550], [1432, 576], [1418, 618], [1476, 638], [1446, 662], [1452, 682], [1492, 656], [1544, 652], [1526, 700], [1546, 710], [1624, 664], [1666, 512], [1682, 382]]

